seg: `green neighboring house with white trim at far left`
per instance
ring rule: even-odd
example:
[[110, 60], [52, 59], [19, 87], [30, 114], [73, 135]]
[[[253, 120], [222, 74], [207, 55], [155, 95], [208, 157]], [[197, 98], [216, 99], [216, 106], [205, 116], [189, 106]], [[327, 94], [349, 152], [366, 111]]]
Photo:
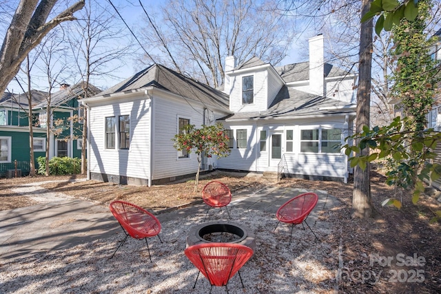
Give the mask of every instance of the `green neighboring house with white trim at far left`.
[[[87, 92], [92, 96], [101, 90], [89, 85]], [[59, 91], [51, 94], [50, 120], [46, 117], [49, 94], [37, 90], [31, 90], [31, 94], [35, 166], [37, 158], [45, 156], [46, 140], [50, 142], [50, 158], [81, 158], [83, 109], [78, 100], [84, 97], [83, 83], [63, 84]], [[14, 176], [16, 168], [23, 176], [30, 173], [29, 108], [26, 94], [5, 93], [0, 99], [0, 177]], [[51, 125], [49, 138], [46, 136], [47, 123]]]

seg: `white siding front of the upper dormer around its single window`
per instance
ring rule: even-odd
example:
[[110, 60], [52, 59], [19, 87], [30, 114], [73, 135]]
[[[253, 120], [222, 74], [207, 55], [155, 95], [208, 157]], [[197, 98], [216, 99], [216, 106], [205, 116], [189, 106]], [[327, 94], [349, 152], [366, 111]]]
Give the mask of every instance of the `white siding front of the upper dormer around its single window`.
[[[254, 103], [242, 104], [242, 77], [254, 76]], [[268, 72], [261, 70], [232, 77], [232, 94], [229, 96], [229, 109], [232, 112], [260, 112], [267, 109]]]

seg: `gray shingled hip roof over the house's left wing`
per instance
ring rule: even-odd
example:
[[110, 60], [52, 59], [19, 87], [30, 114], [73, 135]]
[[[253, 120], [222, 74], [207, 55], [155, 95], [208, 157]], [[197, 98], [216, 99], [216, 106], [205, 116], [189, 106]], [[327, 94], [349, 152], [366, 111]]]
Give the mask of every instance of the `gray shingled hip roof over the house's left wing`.
[[145, 70], [141, 70], [141, 72], [110, 87], [97, 96], [139, 90], [144, 87], [157, 87], [158, 89], [192, 98], [201, 101], [205, 105], [213, 105], [218, 107], [218, 109], [229, 112], [229, 98], [225, 93], [194, 81], [192, 78], [178, 74], [174, 70], [159, 64], [154, 64]]

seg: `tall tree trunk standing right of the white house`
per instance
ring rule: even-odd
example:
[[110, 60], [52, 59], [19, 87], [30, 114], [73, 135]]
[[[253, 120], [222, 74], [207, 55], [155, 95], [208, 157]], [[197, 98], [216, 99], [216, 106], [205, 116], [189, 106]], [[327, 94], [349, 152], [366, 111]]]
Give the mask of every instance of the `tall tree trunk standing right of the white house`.
[[[362, 0], [362, 15], [371, 7], [372, 0]], [[362, 132], [362, 127], [369, 127], [369, 109], [371, 103], [371, 62], [372, 62], [372, 29], [373, 21], [370, 19], [361, 24], [360, 29], [360, 64], [357, 92], [357, 118], [356, 132]], [[358, 156], [365, 156], [369, 148], [362, 149]], [[356, 166], [353, 174], [352, 217], [370, 218], [373, 216], [371, 200], [371, 186], [369, 179], [369, 162], [366, 169]]]

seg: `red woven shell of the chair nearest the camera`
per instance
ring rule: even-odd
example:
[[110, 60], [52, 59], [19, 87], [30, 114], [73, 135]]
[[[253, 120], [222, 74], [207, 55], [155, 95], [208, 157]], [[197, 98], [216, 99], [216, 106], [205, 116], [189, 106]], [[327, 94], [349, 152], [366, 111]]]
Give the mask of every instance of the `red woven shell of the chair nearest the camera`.
[[253, 249], [234, 243], [202, 243], [184, 251], [213, 286], [225, 286], [252, 257]]

